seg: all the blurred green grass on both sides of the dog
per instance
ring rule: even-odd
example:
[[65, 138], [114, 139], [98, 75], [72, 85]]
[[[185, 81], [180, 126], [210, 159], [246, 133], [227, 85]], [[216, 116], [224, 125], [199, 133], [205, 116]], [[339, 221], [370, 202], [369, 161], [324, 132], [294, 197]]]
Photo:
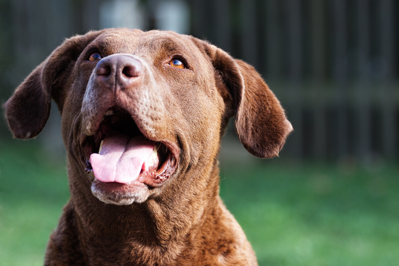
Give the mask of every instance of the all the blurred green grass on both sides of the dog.
[[[221, 196], [260, 265], [398, 265], [395, 164], [223, 164]], [[65, 160], [0, 140], [0, 266], [42, 265], [68, 197]]]

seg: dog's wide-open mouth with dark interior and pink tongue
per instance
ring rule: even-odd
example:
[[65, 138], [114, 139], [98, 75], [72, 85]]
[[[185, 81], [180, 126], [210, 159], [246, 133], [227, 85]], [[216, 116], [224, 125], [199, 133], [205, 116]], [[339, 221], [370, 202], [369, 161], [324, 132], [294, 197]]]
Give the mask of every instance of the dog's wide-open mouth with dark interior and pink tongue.
[[176, 168], [174, 145], [144, 136], [130, 113], [119, 106], [105, 111], [97, 132], [83, 138], [81, 149], [93, 185], [108, 188], [109, 193], [134, 184], [157, 187]]

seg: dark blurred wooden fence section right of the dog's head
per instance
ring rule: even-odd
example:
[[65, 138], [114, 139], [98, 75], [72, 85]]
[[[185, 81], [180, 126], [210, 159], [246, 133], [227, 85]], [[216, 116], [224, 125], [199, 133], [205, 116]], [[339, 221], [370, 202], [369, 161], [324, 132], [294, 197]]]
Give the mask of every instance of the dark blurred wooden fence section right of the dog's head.
[[398, 155], [398, 1], [192, 1], [192, 33], [251, 63], [297, 158]]

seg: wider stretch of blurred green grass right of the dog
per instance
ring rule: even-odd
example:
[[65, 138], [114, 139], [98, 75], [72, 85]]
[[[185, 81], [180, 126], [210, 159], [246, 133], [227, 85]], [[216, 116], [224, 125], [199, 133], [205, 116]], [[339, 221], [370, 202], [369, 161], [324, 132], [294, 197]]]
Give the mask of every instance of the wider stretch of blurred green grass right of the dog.
[[223, 167], [221, 197], [260, 265], [399, 263], [399, 167]]

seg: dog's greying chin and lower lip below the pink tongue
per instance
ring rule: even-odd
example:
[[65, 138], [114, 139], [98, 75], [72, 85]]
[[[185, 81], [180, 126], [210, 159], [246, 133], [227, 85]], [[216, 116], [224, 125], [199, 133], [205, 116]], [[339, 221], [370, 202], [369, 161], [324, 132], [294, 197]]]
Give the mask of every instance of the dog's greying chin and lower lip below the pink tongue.
[[91, 184], [91, 192], [100, 201], [115, 205], [143, 203], [150, 196], [148, 187], [139, 181], [122, 184], [117, 182], [101, 182], [94, 179]]

